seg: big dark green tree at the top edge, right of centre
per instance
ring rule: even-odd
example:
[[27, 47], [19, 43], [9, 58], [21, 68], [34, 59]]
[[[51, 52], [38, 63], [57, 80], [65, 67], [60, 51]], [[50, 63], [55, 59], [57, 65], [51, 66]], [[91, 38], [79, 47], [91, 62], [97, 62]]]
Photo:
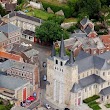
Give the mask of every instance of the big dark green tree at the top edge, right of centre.
[[101, 2], [100, 0], [79, 0], [76, 6], [79, 13], [86, 12], [90, 17], [93, 17], [99, 14]]

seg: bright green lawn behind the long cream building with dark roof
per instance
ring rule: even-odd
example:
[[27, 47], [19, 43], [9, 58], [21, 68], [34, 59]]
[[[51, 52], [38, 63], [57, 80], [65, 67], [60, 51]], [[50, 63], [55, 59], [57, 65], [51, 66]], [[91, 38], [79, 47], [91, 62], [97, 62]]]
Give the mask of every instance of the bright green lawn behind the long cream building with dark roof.
[[47, 13], [46, 11], [43, 10], [32, 9], [30, 7], [26, 8], [25, 10], [28, 10], [28, 12], [26, 13], [27, 15], [41, 18], [43, 20], [47, 20], [49, 17], [54, 16], [54, 14]]

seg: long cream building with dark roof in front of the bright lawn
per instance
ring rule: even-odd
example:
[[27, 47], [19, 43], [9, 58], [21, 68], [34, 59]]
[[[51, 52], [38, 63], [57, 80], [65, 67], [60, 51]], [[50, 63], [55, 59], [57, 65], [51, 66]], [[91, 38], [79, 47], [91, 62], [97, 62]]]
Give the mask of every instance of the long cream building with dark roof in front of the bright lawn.
[[36, 26], [40, 26], [42, 20], [39, 18], [27, 16], [20, 12], [13, 11], [2, 18], [4, 22], [11, 23], [20, 27], [23, 30], [30, 30], [35, 32]]

